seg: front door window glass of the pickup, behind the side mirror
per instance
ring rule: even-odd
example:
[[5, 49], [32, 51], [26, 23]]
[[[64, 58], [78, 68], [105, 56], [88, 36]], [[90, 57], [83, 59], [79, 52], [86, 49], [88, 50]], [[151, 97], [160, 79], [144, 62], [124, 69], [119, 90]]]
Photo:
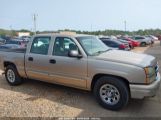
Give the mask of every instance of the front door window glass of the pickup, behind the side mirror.
[[57, 37], [55, 39], [53, 55], [56, 56], [68, 56], [70, 50], [78, 50], [74, 41], [67, 37]]

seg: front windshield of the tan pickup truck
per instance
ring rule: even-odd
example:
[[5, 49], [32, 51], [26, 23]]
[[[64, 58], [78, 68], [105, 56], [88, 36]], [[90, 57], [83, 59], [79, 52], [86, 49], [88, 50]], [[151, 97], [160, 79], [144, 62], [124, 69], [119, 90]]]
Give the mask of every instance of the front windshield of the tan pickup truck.
[[76, 39], [89, 56], [98, 55], [109, 50], [109, 47], [95, 36], [77, 37]]

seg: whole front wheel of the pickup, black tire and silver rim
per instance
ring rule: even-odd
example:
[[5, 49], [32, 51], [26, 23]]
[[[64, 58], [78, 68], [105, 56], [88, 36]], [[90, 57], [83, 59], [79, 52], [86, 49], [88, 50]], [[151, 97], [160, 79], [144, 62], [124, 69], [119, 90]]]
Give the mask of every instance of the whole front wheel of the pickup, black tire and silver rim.
[[[106, 89], [103, 90], [104, 87]], [[106, 91], [105, 94], [102, 91]], [[125, 107], [130, 98], [128, 86], [121, 79], [109, 76], [99, 78], [93, 92], [102, 107], [115, 111]]]

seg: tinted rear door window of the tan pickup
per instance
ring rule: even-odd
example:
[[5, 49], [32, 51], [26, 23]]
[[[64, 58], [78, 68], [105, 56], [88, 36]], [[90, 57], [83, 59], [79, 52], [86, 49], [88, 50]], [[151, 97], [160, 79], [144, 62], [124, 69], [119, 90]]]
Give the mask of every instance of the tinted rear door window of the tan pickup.
[[36, 37], [32, 42], [30, 53], [47, 55], [50, 39], [50, 37]]

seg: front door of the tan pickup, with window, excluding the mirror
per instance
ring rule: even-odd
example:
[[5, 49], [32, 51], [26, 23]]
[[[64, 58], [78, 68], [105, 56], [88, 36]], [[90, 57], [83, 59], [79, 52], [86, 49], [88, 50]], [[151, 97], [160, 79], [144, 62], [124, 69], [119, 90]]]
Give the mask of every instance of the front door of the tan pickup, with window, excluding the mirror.
[[50, 56], [49, 75], [56, 83], [85, 88], [87, 59], [69, 57], [69, 50], [79, 51], [74, 40], [67, 37], [57, 37], [55, 39], [53, 53]]

